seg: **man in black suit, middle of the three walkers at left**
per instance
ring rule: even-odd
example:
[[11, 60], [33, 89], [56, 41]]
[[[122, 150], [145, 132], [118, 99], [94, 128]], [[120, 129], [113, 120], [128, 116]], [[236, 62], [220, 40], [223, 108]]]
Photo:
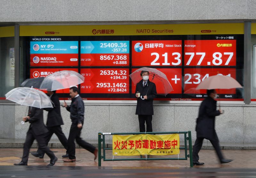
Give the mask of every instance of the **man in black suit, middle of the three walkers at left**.
[[[64, 123], [60, 115], [59, 97], [55, 93], [56, 91], [47, 91], [47, 95], [50, 96], [50, 99], [52, 100], [53, 108], [45, 108], [45, 110], [48, 111], [46, 126], [49, 130], [45, 137], [45, 140], [46, 144], [48, 144], [53, 133], [55, 133], [59, 138], [60, 143], [67, 150], [66, 154], [62, 156], [64, 158], [68, 157], [68, 139], [66, 138], [60, 127], [60, 125], [63, 125]], [[37, 149], [37, 152], [32, 152], [31, 154], [35, 157], [44, 158], [44, 151], [39, 148]]]

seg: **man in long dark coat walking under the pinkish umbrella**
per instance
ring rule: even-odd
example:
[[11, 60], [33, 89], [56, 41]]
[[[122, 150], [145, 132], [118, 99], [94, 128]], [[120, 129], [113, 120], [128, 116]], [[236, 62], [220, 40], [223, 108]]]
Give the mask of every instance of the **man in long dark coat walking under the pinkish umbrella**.
[[208, 97], [205, 98], [199, 108], [198, 118], [196, 119], [196, 141], [193, 147], [193, 164], [194, 165], [203, 165], [200, 163], [198, 152], [202, 148], [204, 138], [210, 140], [212, 146], [214, 147], [220, 163], [228, 163], [232, 159], [224, 159], [219, 145], [219, 139], [215, 131], [215, 116], [223, 114], [221, 109], [216, 110], [215, 100], [217, 98], [217, 93], [214, 89], [207, 90]]

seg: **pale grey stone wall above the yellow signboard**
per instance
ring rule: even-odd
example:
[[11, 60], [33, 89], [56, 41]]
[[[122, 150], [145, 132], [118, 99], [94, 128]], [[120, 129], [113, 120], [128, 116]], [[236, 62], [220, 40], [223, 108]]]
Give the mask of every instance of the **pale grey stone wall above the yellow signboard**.
[[0, 0], [0, 22], [256, 19], [256, 0]]

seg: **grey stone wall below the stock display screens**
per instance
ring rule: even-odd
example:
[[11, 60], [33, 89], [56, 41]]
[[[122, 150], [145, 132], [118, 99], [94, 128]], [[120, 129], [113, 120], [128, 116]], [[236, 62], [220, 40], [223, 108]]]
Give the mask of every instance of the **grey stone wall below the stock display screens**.
[[[0, 105], [0, 108], [3, 108]], [[81, 137], [89, 141], [98, 140], [98, 132], [139, 132], [138, 116], [135, 115], [135, 103], [130, 104], [89, 104], [85, 103], [85, 122]], [[223, 105], [223, 115], [216, 117], [216, 131], [221, 143], [256, 143], [256, 106]], [[199, 104], [154, 104], [153, 131], [192, 131], [192, 141], [196, 139], [195, 125]], [[21, 124], [21, 118], [27, 114], [28, 107], [13, 105], [0, 109], [0, 138], [24, 140], [28, 123]], [[4, 114], [6, 113], [6, 114]], [[46, 112], [44, 119], [46, 121]], [[69, 112], [61, 108], [64, 120], [62, 129], [68, 137], [71, 121]], [[3, 122], [4, 121], [4, 122]], [[6, 122], [7, 121], [7, 122]], [[15, 130], [15, 131], [14, 131]], [[4, 134], [3, 134], [4, 133]], [[181, 136], [180, 136], [181, 137]], [[54, 135], [52, 140], [58, 140]], [[106, 137], [111, 141], [111, 137]], [[180, 138], [184, 141], [183, 137]]]

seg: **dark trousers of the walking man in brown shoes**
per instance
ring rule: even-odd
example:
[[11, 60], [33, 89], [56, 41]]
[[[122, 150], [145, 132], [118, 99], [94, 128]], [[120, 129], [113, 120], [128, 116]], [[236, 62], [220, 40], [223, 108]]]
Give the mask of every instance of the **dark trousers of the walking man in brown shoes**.
[[93, 153], [96, 149], [95, 146], [92, 146], [91, 144], [85, 142], [80, 137], [82, 128], [78, 128], [77, 124], [72, 123], [69, 131], [68, 136], [68, 157], [69, 159], [76, 159], [76, 143], [80, 145], [85, 150], [88, 150], [89, 152]]

